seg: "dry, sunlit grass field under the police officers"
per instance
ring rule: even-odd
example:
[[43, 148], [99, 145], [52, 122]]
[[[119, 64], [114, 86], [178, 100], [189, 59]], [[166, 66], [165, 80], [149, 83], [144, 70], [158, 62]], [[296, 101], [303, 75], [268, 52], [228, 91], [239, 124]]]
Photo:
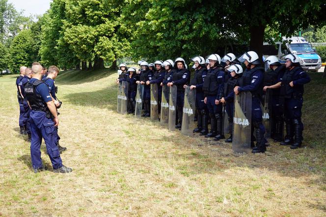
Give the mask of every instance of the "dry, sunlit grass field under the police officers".
[[[311, 76], [304, 147], [235, 155], [230, 144], [117, 114], [113, 72], [62, 72], [70, 174], [31, 171], [16, 76], [0, 77], [0, 216], [326, 216], [326, 79]], [[42, 157], [52, 168], [44, 144]]]

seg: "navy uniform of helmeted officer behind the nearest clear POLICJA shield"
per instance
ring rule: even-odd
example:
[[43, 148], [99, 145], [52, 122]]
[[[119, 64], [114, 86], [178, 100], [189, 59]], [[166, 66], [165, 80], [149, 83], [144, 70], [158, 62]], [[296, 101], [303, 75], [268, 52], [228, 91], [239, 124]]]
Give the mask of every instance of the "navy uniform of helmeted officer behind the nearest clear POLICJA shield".
[[264, 82], [264, 71], [262, 67], [255, 66], [252, 69], [246, 69], [242, 78], [240, 79], [239, 92], [250, 91], [252, 95], [251, 104], [251, 122], [252, 122], [252, 135], [251, 141], [253, 141], [253, 131], [256, 130], [256, 141], [257, 147], [261, 150], [266, 150], [265, 139], [265, 127], [262, 123], [263, 112], [260, 107], [261, 97], [263, 95], [263, 82]]

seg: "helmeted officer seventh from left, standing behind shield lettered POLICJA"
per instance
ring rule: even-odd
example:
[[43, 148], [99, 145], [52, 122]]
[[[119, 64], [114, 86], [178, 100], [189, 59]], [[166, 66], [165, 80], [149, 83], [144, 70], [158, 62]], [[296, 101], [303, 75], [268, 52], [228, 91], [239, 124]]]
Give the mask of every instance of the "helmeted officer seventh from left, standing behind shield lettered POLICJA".
[[197, 127], [193, 130], [193, 133], [206, 135], [208, 133], [208, 109], [204, 103], [203, 83], [207, 74], [207, 68], [205, 59], [202, 56], [195, 56], [191, 60], [194, 62], [192, 68], [195, 69], [195, 74], [190, 80], [190, 89], [196, 89], [197, 110]]

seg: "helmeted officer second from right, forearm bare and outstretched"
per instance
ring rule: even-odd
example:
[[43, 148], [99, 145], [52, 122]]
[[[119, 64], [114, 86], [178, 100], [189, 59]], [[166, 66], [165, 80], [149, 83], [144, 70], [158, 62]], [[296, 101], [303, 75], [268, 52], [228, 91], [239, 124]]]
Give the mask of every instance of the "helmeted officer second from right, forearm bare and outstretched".
[[271, 115], [271, 137], [274, 141], [283, 140], [283, 100], [280, 100], [279, 93], [281, 79], [285, 72], [276, 56], [269, 56], [265, 59], [264, 91], [272, 89], [272, 115]]

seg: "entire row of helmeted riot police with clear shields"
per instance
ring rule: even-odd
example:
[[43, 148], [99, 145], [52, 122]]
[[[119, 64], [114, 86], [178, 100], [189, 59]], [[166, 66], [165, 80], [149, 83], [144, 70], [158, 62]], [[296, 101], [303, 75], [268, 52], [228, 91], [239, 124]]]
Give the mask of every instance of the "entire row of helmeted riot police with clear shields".
[[[285, 59], [283, 66], [269, 56], [264, 69], [253, 51], [238, 59], [231, 53], [223, 58], [195, 56], [191, 79], [181, 57], [154, 63], [140, 60], [139, 70], [120, 64], [117, 111], [151, 117], [189, 136], [221, 140], [228, 133], [225, 142], [232, 142], [235, 152], [264, 153], [266, 138], [295, 149], [303, 139], [303, 85], [310, 78], [296, 54]], [[192, 130], [195, 113], [197, 126]]]

